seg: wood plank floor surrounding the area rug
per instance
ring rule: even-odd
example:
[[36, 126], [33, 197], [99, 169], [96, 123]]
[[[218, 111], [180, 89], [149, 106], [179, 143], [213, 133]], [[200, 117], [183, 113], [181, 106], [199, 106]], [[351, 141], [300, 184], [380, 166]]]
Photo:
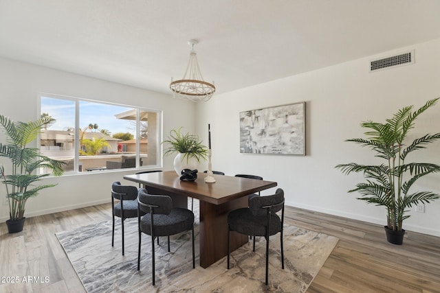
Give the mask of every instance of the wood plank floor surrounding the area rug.
[[[85, 292], [54, 234], [110, 219], [100, 204], [28, 218], [17, 234], [0, 224], [0, 292]], [[285, 222], [340, 239], [309, 293], [440, 292], [440, 237], [407, 231], [395, 246], [382, 226], [292, 207]]]

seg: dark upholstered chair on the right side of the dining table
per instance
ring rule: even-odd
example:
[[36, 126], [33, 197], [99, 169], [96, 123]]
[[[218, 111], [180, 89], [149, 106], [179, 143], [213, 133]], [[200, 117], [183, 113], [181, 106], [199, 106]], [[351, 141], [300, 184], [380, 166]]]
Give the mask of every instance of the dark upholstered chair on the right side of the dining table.
[[[276, 214], [281, 211], [281, 218]], [[281, 268], [284, 269], [283, 251], [284, 191], [276, 189], [272, 196], [256, 196], [250, 200], [247, 208], [236, 209], [228, 214], [228, 269], [230, 255], [230, 232], [245, 235], [264, 236], [266, 239], [266, 285], [269, 272], [269, 237], [281, 234]]]

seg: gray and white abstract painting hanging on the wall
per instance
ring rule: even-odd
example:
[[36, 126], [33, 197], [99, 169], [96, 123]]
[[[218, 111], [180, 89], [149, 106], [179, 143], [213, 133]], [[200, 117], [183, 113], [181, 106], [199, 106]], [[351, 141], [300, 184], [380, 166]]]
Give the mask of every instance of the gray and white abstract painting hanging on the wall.
[[305, 102], [240, 112], [240, 153], [305, 155]]

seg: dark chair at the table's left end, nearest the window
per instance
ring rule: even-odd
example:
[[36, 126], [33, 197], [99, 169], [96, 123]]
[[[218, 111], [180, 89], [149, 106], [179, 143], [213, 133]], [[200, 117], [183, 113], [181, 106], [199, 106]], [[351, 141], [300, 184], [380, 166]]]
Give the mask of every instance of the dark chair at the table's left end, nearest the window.
[[[120, 200], [115, 204], [115, 199]], [[115, 216], [121, 218], [122, 255], [124, 255], [124, 220], [137, 217], [137, 188], [131, 185], [121, 185], [119, 181], [111, 185], [111, 211], [113, 229], [111, 231], [111, 246], [115, 244]]]

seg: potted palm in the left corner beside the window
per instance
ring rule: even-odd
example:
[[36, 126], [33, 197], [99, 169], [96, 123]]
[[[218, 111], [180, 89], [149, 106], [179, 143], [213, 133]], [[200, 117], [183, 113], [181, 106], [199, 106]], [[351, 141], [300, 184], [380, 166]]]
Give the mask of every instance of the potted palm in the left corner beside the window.
[[23, 231], [25, 222], [25, 204], [29, 198], [37, 196], [41, 189], [55, 185], [36, 185], [41, 178], [50, 174], [36, 174], [41, 168], [52, 170], [54, 176], [63, 174], [61, 161], [43, 156], [38, 148], [28, 147], [33, 143], [41, 130], [54, 119], [43, 117], [30, 122], [14, 122], [0, 115], [0, 126], [6, 134], [5, 143], [0, 143], [0, 156], [8, 158], [11, 163], [10, 174], [5, 174], [5, 167], [0, 165], [0, 176], [6, 187], [10, 220], [6, 221], [9, 233]]

